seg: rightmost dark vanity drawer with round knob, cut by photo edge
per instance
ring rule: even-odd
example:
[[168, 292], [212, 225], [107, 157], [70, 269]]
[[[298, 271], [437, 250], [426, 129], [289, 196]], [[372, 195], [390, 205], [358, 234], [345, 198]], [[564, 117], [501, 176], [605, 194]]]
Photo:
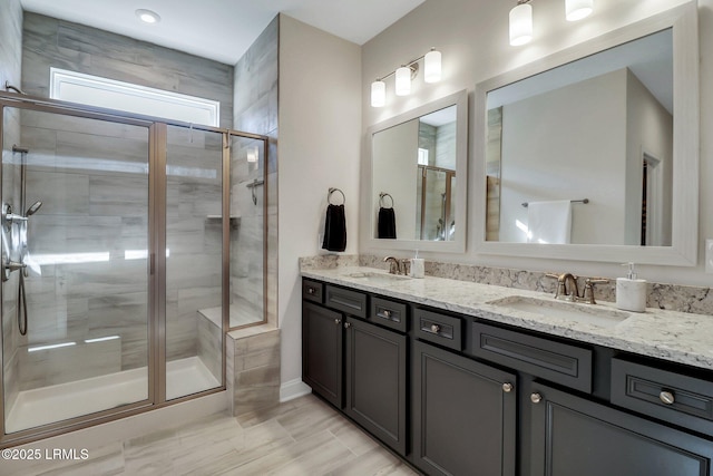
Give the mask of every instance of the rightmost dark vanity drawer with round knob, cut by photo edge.
[[713, 436], [713, 381], [613, 359], [612, 404]]

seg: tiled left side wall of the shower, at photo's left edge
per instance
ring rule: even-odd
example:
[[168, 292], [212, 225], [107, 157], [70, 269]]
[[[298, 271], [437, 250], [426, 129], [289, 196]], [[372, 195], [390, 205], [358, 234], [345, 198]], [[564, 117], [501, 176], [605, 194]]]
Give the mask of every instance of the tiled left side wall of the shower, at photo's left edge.
[[[0, 85], [6, 81], [20, 86], [22, 62], [22, 7], [20, 0], [4, 0], [0, 6]], [[12, 154], [12, 144], [20, 139], [20, 117], [18, 114], [8, 115], [3, 129], [3, 159]], [[11, 195], [18, 192], [16, 174], [6, 173], [2, 176], [3, 190], [11, 190]], [[17, 273], [2, 284], [2, 349], [3, 375], [6, 386], [6, 404], [11, 406], [19, 391], [18, 373], [18, 341], [16, 303], [17, 303], [18, 276]]]

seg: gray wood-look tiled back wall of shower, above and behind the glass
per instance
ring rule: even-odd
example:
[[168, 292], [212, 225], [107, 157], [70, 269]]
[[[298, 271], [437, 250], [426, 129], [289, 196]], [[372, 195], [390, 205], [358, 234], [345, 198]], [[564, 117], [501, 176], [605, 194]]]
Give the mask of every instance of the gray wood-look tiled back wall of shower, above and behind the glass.
[[[4, 17], [3, 17], [4, 18]], [[233, 67], [211, 61], [204, 58], [194, 57], [187, 54], [162, 48], [155, 45], [137, 41], [127, 37], [108, 33], [94, 28], [43, 17], [36, 13], [26, 13], [25, 18], [25, 41], [22, 56], [22, 87], [27, 93], [38, 96], [48, 95], [49, 68], [59, 67], [76, 70], [79, 72], [102, 76], [111, 79], [139, 84], [164, 90], [172, 90], [182, 94], [206, 97], [221, 101], [221, 126], [231, 127], [233, 118]], [[22, 130], [22, 145], [35, 152], [43, 150], [46, 154], [53, 154], [59, 145], [52, 145], [53, 137], [48, 139], [45, 132], [36, 134], [39, 129], [28, 122]], [[113, 150], [121, 150], [123, 154], [131, 153], [144, 155], [146, 145], [136, 143], [135, 133], [125, 135], [119, 139], [107, 139], [101, 137], [101, 133], [88, 130], [89, 134], [69, 135], [65, 134], [62, 155], [82, 156], [88, 152], [87, 146], [109, 147]], [[131, 135], [134, 134], [134, 135]], [[51, 136], [51, 134], [49, 135]], [[49, 143], [48, 143], [49, 140]], [[188, 143], [188, 140], [185, 140]], [[179, 162], [188, 162], [191, 165], [201, 163], [202, 154], [215, 154], [217, 145], [209, 144], [203, 148], [204, 142], [201, 134], [195, 134], [194, 143], [191, 146], [180, 145], [174, 152], [180, 157]], [[186, 148], [193, 147], [193, 148]], [[130, 161], [139, 159], [136, 155]], [[170, 156], [169, 156], [170, 161]], [[186, 165], [186, 164], [182, 164]], [[45, 230], [52, 230], [52, 220], [57, 224], [66, 226], [72, 233], [74, 241], [69, 241], [71, 246], [79, 246], [84, 243], [87, 247], [105, 246], [111, 253], [111, 260], [105, 265], [107, 269], [95, 265], [74, 265], [71, 275], [68, 278], [75, 283], [86, 281], [89, 289], [101, 290], [102, 285], [117, 292], [97, 292], [94, 298], [70, 299], [58, 302], [61, 294], [55, 286], [61, 284], [61, 280], [49, 281], [28, 280], [28, 302], [30, 302], [32, 319], [36, 321], [35, 331], [31, 331], [31, 339], [51, 339], [52, 329], [57, 331], [56, 317], [57, 308], [62, 307], [67, 311], [66, 332], [67, 336], [90, 336], [92, 332], [110, 332], [121, 337], [119, 349], [111, 346], [102, 347], [98, 354], [90, 354], [89, 359], [96, 358], [106, 362], [106, 366], [87, 366], [84, 373], [68, 376], [69, 372], [56, 372], [50, 366], [36, 366], [37, 369], [28, 372], [27, 381], [21, 383], [23, 388], [31, 388], [36, 385], [56, 383], [58, 380], [72, 380], [75, 378], [100, 375], [118, 369], [130, 369], [146, 365], [146, 328], [144, 322], [147, 315], [146, 286], [145, 283], [137, 282], [128, 278], [130, 273], [146, 275], [146, 260], [127, 261], [123, 259], [123, 250], [137, 250], [146, 247], [147, 217], [145, 214], [145, 202], [147, 200], [147, 181], [140, 174], [127, 177], [121, 174], [105, 174], [100, 171], [84, 174], [71, 174], [72, 177], [64, 177], [74, 182], [66, 183], [62, 188], [57, 188], [58, 176], [55, 171], [41, 171], [31, 168], [28, 172], [28, 191], [41, 188], [45, 200], [42, 210], [35, 215], [35, 235], [38, 239], [37, 245], [41, 245], [39, 236], [43, 236], [47, 246], [52, 245], [51, 231], [47, 235], [40, 234], [42, 226]], [[174, 270], [168, 278], [168, 302], [167, 312], [175, 311], [176, 319], [168, 324], [167, 350], [168, 358], [182, 358], [195, 356], [196, 348], [196, 315], [191, 312], [179, 312], [179, 309], [197, 309], [205, 302], [214, 305], [213, 297], [219, 286], [219, 264], [209, 272], [211, 260], [196, 260], [198, 251], [201, 258], [203, 253], [218, 253], [219, 250], [219, 225], [207, 220], [208, 214], [219, 213], [219, 181], [197, 179], [195, 177], [175, 177], [177, 183], [172, 184], [169, 172], [169, 213], [173, 213], [175, 221], [168, 224], [170, 242], [169, 247]], [[31, 185], [30, 185], [31, 184]], [[70, 185], [74, 184], [74, 185]], [[172, 185], [175, 187], [172, 188]], [[175, 192], [175, 193], [174, 193]], [[214, 196], [215, 193], [215, 196]], [[53, 194], [57, 202], [74, 204], [82, 210], [89, 211], [92, 215], [92, 223], [98, 226], [82, 226], [82, 220], [60, 216], [52, 216]], [[173, 195], [172, 195], [173, 194]], [[46, 195], [46, 196], [45, 196]], [[32, 197], [28, 196], [28, 203]], [[218, 204], [217, 212], [215, 204]], [[134, 206], [131, 206], [134, 205]], [[74, 224], [68, 223], [68, 220]], [[170, 220], [170, 218], [169, 218]], [[196, 225], [197, 223], [197, 225]], [[59, 237], [66, 240], [66, 236]], [[217, 239], [217, 242], [216, 240]], [[141, 243], [144, 240], [144, 243]], [[217, 243], [217, 244], [216, 244]], [[79, 249], [79, 247], [78, 247]], [[192, 256], [193, 255], [193, 256]], [[116, 260], [114, 258], [117, 258]], [[219, 263], [219, 260], [214, 260]], [[113, 275], [119, 276], [118, 282], [102, 282], [104, 271], [113, 270]], [[216, 273], [216, 269], [218, 272]], [[121, 270], [126, 270], [126, 280], [121, 280]], [[53, 279], [52, 272], [45, 271], [47, 279]], [[117, 273], [118, 272], [118, 273]], [[206, 275], [211, 274], [209, 279]], [[218, 275], [217, 282], [214, 278]], [[199, 285], [197, 285], [199, 283]], [[33, 289], [30, 290], [32, 284]], [[47, 285], [46, 285], [47, 284]], [[101, 295], [99, 295], [101, 294]], [[184, 305], [186, 303], [191, 305]], [[218, 300], [219, 303], [219, 300]], [[88, 317], [91, 319], [88, 320]], [[64, 317], [62, 317], [64, 318]], [[45, 326], [46, 324], [46, 326]], [[55, 332], [56, 336], [56, 332]], [[22, 341], [21, 344], [27, 344]], [[86, 359], [86, 356], [85, 356]], [[29, 363], [29, 362], [28, 362]], [[29, 366], [32, 367], [32, 366]], [[45, 370], [42, 370], [42, 368]], [[66, 370], [66, 367], [62, 369]], [[39, 371], [38, 371], [39, 370]]]

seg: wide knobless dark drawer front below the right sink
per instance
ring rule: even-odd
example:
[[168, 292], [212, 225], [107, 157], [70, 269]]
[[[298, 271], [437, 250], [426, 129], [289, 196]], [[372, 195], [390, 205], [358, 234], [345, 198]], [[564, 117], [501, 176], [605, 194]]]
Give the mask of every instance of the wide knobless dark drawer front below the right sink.
[[592, 350], [473, 323], [472, 354], [576, 390], [592, 392]]

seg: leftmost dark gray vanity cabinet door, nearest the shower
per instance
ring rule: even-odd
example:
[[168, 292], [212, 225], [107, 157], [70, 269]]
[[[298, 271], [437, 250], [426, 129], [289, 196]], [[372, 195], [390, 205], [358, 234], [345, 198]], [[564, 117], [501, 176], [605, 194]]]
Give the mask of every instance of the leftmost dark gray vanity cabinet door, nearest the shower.
[[302, 380], [342, 408], [342, 322], [340, 312], [302, 303]]

